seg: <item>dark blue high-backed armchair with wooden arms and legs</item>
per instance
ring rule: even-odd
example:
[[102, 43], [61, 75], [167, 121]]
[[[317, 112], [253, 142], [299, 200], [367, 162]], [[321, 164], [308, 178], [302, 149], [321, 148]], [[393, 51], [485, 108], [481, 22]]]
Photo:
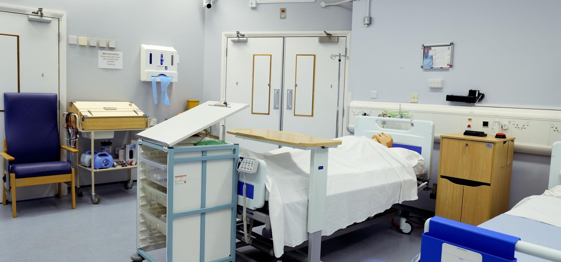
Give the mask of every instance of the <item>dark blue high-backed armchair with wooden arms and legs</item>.
[[21, 186], [58, 183], [62, 198], [62, 183], [70, 182], [72, 209], [76, 208], [74, 169], [61, 160], [61, 145], [57, 124], [56, 93], [4, 93], [4, 180], [2, 204], [6, 193], [12, 195], [12, 217], [16, 217], [16, 188]]

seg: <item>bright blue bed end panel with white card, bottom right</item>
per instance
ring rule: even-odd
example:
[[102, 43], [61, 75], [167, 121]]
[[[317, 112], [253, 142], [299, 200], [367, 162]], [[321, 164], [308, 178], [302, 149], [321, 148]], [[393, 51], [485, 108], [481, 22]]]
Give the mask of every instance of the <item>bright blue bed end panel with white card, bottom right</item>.
[[519, 237], [486, 230], [443, 217], [429, 221], [422, 234], [421, 261], [517, 261], [515, 244]]

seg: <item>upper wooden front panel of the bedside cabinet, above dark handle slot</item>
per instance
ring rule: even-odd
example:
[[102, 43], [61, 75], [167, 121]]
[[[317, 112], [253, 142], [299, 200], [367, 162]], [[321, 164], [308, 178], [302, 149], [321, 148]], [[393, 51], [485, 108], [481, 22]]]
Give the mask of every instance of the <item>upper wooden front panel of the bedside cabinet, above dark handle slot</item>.
[[494, 143], [443, 138], [439, 174], [491, 183]]

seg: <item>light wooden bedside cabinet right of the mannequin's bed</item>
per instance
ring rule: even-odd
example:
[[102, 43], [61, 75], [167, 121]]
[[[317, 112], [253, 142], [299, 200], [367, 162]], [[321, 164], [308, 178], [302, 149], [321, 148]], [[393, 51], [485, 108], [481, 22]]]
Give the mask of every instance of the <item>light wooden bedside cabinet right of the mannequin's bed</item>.
[[477, 226], [508, 211], [514, 137], [440, 135], [436, 216]]

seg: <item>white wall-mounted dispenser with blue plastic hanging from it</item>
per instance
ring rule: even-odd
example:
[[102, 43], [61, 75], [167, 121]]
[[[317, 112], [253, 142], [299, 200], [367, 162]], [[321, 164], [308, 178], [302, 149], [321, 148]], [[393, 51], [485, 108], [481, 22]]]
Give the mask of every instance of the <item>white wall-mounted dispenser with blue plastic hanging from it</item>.
[[179, 55], [175, 48], [159, 45], [140, 45], [140, 81], [151, 82], [152, 77], [160, 82], [160, 74], [173, 77], [177, 82]]

